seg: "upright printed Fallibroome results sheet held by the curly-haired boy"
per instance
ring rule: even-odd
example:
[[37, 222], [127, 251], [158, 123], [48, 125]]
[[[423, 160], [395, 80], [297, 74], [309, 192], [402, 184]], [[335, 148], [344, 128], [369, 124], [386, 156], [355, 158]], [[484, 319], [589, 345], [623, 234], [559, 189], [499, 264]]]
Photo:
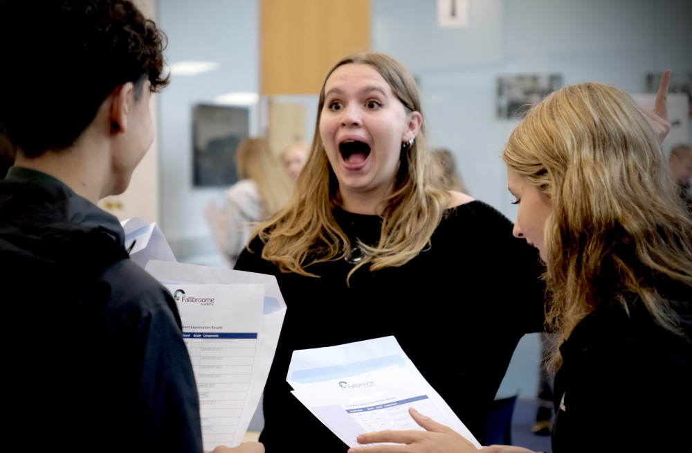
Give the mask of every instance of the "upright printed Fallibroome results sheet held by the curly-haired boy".
[[[255, 357], [264, 285], [167, 285], [178, 305], [197, 381], [204, 450], [238, 445], [250, 423], [250, 393], [262, 392]], [[252, 416], [252, 414], [251, 414]]]

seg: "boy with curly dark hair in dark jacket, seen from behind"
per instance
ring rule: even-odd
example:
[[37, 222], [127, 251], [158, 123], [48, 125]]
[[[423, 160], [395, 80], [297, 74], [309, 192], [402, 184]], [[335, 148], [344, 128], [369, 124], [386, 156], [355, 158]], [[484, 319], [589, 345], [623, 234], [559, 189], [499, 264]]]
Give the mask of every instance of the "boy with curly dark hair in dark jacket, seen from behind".
[[203, 451], [176, 304], [95, 206], [152, 145], [164, 44], [129, 1], [0, 1], [0, 124], [16, 150], [0, 181], [5, 429], [21, 447]]

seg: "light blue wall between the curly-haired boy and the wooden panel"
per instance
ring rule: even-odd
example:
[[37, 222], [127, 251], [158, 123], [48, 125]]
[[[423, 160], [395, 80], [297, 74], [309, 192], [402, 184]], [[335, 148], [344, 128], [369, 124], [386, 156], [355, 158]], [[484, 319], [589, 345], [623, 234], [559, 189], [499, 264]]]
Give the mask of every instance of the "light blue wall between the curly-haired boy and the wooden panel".
[[[221, 94], [259, 90], [259, 30], [256, 0], [159, 0], [156, 16], [167, 33], [167, 62], [218, 62], [215, 71], [174, 75], [158, 96], [161, 229], [179, 260], [214, 253], [202, 214], [222, 190], [192, 187], [192, 107]], [[251, 133], [257, 115], [251, 114]]]

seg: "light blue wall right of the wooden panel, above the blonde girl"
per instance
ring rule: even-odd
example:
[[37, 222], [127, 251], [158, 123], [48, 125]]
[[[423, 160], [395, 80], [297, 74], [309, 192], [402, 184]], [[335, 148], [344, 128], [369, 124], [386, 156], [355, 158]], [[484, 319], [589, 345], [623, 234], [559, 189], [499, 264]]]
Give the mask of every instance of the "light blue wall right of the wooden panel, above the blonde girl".
[[419, 81], [431, 141], [455, 152], [471, 195], [511, 218], [498, 155], [517, 122], [495, 116], [499, 75], [559, 73], [635, 94], [647, 73], [692, 71], [689, 0], [471, 0], [467, 28], [439, 28], [435, 3], [372, 0], [372, 46]]

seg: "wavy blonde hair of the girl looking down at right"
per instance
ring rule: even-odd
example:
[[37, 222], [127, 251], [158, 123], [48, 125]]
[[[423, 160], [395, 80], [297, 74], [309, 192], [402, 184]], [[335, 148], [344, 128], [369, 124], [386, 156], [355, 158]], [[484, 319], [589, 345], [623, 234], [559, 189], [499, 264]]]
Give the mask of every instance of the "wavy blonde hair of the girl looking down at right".
[[[657, 291], [692, 286], [692, 220], [664, 153], [623, 91], [565, 87], [531, 109], [502, 159], [552, 202], [545, 222], [547, 327], [556, 345], [601, 303], [639, 299], [662, 326], [677, 316]], [[556, 348], [552, 366], [561, 364]]]

